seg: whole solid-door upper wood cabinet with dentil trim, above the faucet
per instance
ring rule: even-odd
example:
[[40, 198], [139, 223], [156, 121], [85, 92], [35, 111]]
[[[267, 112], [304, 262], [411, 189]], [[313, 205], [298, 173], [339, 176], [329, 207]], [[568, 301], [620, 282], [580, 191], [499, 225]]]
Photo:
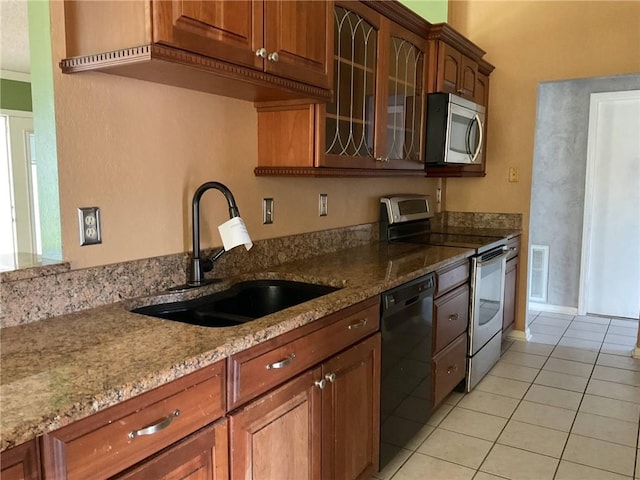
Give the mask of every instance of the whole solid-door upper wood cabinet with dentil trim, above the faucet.
[[65, 0], [65, 32], [64, 73], [251, 101], [331, 98], [332, 1]]

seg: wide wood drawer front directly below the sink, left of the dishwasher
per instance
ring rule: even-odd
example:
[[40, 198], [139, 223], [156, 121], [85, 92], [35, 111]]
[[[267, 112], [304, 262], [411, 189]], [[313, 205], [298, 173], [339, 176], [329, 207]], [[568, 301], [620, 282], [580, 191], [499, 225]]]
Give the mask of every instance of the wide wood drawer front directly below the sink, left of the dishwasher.
[[375, 297], [233, 355], [229, 410], [376, 332], [379, 310]]

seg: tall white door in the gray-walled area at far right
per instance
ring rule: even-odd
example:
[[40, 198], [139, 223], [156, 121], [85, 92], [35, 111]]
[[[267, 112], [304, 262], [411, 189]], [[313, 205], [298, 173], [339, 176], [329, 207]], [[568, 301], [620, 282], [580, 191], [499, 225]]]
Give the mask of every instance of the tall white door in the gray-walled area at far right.
[[591, 95], [578, 314], [640, 317], [640, 90]]

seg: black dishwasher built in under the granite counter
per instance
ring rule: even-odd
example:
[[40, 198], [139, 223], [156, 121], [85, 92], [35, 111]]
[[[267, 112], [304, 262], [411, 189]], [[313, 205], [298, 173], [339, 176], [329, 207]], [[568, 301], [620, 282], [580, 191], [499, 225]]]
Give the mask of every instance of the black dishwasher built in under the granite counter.
[[[434, 290], [430, 273], [382, 294], [381, 447], [403, 446], [431, 416]], [[384, 457], [380, 469], [390, 460]]]

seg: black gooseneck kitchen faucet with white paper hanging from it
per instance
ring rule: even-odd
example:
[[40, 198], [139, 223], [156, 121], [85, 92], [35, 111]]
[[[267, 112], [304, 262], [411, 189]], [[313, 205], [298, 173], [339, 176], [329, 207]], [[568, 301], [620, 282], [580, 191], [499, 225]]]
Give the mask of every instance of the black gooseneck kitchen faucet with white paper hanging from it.
[[191, 260], [191, 269], [189, 271], [189, 281], [187, 284], [190, 287], [197, 287], [199, 285], [204, 285], [208, 283], [204, 279], [204, 272], [209, 272], [213, 269], [213, 264], [216, 260], [218, 260], [222, 254], [225, 252], [224, 247], [218, 250], [213, 257], [209, 260], [200, 259], [200, 199], [202, 195], [207, 190], [215, 189], [224, 195], [227, 199], [227, 203], [229, 204], [229, 218], [239, 217], [240, 212], [238, 211], [238, 207], [236, 206], [236, 200], [233, 198], [233, 194], [231, 190], [229, 190], [225, 185], [219, 182], [207, 182], [195, 191], [193, 194], [193, 202], [192, 202], [192, 236], [193, 236], [193, 258]]

